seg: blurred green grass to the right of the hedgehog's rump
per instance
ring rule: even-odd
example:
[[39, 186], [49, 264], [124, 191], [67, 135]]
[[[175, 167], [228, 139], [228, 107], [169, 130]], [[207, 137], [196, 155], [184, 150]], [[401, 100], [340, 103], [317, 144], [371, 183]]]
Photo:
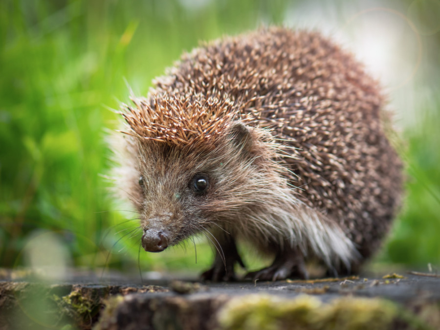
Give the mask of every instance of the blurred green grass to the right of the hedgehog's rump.
[[[440, 97], [422, 121], [406, 130], [406, 198], [400, 219], [384, 249], [385, 260], [401, 264], [440, 264]], [[437, 107], [437, 108], [434, 108]], [[422, 111], [420, 111], [422, 112]]]

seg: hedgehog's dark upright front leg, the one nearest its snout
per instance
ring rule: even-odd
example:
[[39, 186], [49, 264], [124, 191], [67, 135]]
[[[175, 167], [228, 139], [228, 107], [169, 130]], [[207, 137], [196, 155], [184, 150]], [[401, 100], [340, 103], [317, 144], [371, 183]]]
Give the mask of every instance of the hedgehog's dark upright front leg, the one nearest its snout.
[[242, 258], [237, 251], [237, 245], [234, 238], [228, 234], [222, 234], [216, 237], [217, 242], [213, 242], [216, 247], [216, 257], [212, 267], [201, 274], [204, 281], [213, 282], [231, 282], [235, 281], [234, 266], [236, 263], [245, 268]]

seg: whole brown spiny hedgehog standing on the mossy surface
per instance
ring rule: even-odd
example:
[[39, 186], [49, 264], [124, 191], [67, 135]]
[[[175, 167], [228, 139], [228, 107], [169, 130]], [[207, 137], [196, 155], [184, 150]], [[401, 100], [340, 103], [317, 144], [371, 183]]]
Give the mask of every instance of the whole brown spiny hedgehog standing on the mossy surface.
[[233, 281], [237, 242], [273, 263], [245, 278], [359, 271], [400, 202], [401, 161], [379, 84], [318, 32], [269, 27], [182, 55], [119, 112], [116, 182], [160, 252], [213, 244], [204, 280]]

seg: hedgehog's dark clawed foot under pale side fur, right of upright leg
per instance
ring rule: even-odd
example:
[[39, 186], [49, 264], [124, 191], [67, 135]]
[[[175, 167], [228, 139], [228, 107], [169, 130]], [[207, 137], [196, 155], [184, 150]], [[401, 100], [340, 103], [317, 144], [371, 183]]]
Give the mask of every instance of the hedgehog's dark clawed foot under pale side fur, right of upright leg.
[[274, 262], [269, 267], [247, 273], [245, 279], [279, 281], [288, 277], [308, 279], [304, 256], [296, 247], [284, 248], [277, 253]]

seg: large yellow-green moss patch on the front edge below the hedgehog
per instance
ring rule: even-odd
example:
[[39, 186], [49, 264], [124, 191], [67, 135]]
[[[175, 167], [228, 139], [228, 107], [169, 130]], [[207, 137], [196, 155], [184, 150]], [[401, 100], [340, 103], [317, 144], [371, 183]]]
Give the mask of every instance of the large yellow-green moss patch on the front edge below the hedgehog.
[[224, 330], [385, 330], [400, 315], [396, 304], [376, 298], [347, 297], [324, 304], [308, 295], [293, 300], [249, 295], [228, 302], [219, 312], [219, 321]]

